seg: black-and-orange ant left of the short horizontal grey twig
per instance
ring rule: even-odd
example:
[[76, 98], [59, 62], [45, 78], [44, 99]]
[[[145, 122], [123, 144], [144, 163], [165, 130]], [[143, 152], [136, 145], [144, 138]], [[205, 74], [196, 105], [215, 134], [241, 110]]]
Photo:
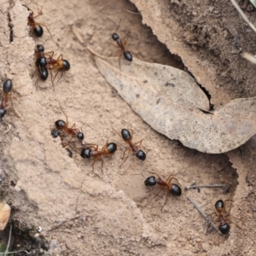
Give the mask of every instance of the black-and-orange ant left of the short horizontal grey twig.
[[[153, 187], [156, 184], [161, 186], [160, 191], [156, 195], [154, 195], [154, 197], [159, 195], [162, 189], [166, 190], [166, 201], [168, 198], [167, 197], [168, 194], [177, 195], [177, 196], [182, 195], [182, 189], [180, 188], [180, 184], [178, 183], [177, 178], [172, 177], [172, 174], [170, 174], [169, 177], [166, 178], [166, 181], [164, 181], [157, 173], [155, 172], [149, 172], [149, 173], [154, 174], [157, 177], [150, 176], [146, 178], [146, 180], [144, 181], [145, 186]], [[172, 183], [172, 180], [176, 180], [177, 183]], [[154, 199], [154, 197], [152, 199]], [[166, 201], [162, 205], [161, 211], [163, 207], [166, 205]]]

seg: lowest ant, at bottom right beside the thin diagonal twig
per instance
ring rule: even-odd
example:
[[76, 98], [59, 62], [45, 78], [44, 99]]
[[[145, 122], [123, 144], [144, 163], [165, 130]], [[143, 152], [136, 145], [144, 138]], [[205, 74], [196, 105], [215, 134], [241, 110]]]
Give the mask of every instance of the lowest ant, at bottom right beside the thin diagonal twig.
[[[229, 218], [227, 218], [230, 215], [230, 213], [225, 211], [226, 201], [232, 201], [232, 200], [230, 200], [230, 199], [225, 200], [225, 201], [218, 200], [215, 203], [215, 210], [217, 212], [212, 212], [211, 214], [209, 214], [209, 215], [212, 215], [213, 213], [215, 213], [215, 215], [218, 216], [218, 222], [219, 222], [218, 230], [224, 235], [229, 234], [229, 232], [230, 232], [230, 224], [228, 224], [226, 222], [226, 220], [228, 219], [231, 223], [233, 223]], [[235, 224], [235, 223], [233, 223], [233, 224]], [[238, 227], [238, 226], [236, 225], [236, 227]]]

